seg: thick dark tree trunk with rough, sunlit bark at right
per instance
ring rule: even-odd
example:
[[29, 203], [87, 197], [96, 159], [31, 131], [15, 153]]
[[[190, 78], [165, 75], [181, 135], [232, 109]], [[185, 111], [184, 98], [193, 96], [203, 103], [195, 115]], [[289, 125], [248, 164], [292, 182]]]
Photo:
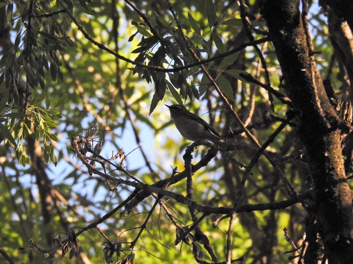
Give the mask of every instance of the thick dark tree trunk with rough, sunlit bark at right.
[[263, 0], [261, 12], [297, 113], [315, 189], [313, 213], [325, 255], [332, 263], [353, 259], [352, 192], [341, 149], [340, 120], [330, 105], [311, 53], [311, 39], [297, 0]]

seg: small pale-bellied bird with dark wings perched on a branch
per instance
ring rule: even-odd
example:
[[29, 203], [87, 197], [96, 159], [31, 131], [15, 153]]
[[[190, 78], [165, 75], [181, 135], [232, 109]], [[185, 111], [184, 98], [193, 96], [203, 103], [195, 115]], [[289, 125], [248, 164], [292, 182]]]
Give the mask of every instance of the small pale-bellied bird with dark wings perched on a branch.
[[172, 117], [175, 126], [184, 138], [196, 140], [208, 140], [217, 142], [220, 135], [205, 120], [196, 114], [188, 111], [181, 105], [165, 105], [169, 108], [170, 117]]

